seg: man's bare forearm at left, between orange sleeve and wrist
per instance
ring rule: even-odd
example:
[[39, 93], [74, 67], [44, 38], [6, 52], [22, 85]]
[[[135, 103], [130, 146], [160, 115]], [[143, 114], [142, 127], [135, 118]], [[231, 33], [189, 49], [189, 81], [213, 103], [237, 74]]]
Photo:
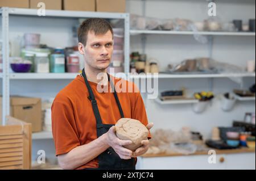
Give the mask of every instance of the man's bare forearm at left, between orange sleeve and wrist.
[[77, 146], [67, 154], [59, 155], [58, 160], [61, 168], [76, 169], [96, 158], [109, 148], [109, 145], [106, 142], [106, 136], [106, 134], [103, 134], [89, 144]]

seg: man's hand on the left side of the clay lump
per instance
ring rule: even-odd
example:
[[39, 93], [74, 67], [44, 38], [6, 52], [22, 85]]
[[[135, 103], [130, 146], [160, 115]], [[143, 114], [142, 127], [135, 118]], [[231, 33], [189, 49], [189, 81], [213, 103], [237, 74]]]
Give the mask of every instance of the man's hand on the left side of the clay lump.
[[133, 151], [124, 148], [125, 145], [130, 145], [133, 142], [130, 140], [120, 140], [115, 135], [115, 127], [111, 127], [109, 131], [106, 134], [106, 144], [111, 146], [115, 153], [119, 155], [121, 159], [131, 159], [131, 155], [133, 154]]

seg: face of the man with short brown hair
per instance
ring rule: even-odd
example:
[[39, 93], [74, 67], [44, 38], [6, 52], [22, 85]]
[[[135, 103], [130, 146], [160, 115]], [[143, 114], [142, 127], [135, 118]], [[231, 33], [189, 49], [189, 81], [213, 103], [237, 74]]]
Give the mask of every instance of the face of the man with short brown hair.
[[113, 36], [111, 31], [105, 35], [95, 35], [89, 31], [84, 48], [85, 65], [95, 70], [104, 70], [109, 67], [113, 54]]

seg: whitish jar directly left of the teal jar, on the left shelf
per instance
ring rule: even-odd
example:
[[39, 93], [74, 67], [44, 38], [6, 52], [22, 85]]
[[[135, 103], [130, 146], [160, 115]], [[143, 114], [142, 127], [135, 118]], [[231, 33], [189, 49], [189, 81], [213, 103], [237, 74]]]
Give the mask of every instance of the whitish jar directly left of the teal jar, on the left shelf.
[[36, 53], [35, 72], [36, 73], [49, 73], [48, 53]]

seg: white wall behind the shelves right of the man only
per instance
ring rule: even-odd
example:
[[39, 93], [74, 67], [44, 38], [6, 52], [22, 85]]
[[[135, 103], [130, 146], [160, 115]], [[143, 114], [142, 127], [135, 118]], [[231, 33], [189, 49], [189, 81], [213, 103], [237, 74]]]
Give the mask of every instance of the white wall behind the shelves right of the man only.
[[[152, 18], [185, 18], [203, 21], [208, 18], [207, 1], [146, 1], [146, 16]], [[127, 10], [142, 15], [142, 1], [127, 1]], [[255, 18], [255, 1], [217, 1], [217, 19], [232, 22], [233, 19]], [[177, 64], [186, 58], [208, 56], [208, 44], [197, 42], [193, 36], [186, 35], [147, 35], [145, 53], [158, 60], [160, 70], [165, 71], [168, 64]], [[141, 36], [131, 36], [131, 51], [142, 52]], [[213, 59], [235, 64], [245, 68], [247, 60], [255, 60], [255, 37], [216, 36], [213, 44]], [[255, 83], [255, 78], [244, 78], [245, 88]], [[159, 92], [186, 87], [189, 94], [209, 90], [209, 79], [159, 79]], [[228, 78], [213, 79], [215, 94], [240, 89], [240, 85]], [[220, 99], [214, 99], [212, 105], [201, 113], [192, 111], [191, 104], [159, 105], [147, 100], [148, 120], [156, 128], [178, 130], [183, 126], [200, 131], [204, 138], [210, 138], [213, 127], [232, 126], [233, 120], [243, 120], [245, 112], [255, 112], [255, 102], [237, 102], [234, 110], [223, 112]]]

